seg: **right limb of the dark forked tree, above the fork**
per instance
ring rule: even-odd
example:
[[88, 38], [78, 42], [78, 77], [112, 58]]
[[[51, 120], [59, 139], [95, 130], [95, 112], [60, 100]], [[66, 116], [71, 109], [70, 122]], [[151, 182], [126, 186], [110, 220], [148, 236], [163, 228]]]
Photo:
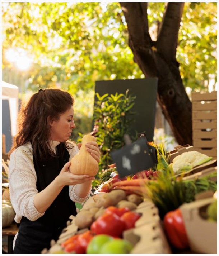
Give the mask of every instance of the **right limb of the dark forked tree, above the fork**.
[[175, 61], [178, 32], [184, 3], [168, 3], [157, 39], [158, 52], [166, 61]]

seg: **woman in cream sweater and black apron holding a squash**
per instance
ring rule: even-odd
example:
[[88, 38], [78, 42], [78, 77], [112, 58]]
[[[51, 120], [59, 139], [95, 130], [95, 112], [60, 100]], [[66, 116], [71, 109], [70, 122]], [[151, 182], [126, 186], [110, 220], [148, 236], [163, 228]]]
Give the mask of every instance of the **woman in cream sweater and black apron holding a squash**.
[[[40, 89], [19, 112], [19, 132], [10, 152], [10, 198], [20, 223], [14, 253], [40, 253], [57, 240], [75, 202], [88, 198], [94, 177], [69, 172], [81, 144], [68, 141], [74, 98], [61, 89]], [[86, 145], [99, 162], [96, 142]]]

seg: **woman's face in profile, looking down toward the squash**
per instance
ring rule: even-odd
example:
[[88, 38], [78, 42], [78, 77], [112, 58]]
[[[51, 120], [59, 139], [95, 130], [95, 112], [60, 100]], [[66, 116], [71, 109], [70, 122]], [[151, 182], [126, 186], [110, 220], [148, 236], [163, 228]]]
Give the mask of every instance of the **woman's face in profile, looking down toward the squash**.
[[60, 115], [59, 120], [52, 121], [50, 126], [50, 139], [54, 141], [64, 142], [69, 140], [72, 129], [75, 128], [73, 120], [74, 109], [70, 107], [65, 113]]

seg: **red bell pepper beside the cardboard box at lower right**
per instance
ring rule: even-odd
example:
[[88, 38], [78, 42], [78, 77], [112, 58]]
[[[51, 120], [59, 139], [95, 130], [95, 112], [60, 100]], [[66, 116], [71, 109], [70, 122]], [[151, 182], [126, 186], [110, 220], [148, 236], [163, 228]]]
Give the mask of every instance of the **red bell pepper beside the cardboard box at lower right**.
[[189, 247], [186, 229], [180, 209], [166, 213], [163, 219], [164, 230], [169, 242], [178, 249]]

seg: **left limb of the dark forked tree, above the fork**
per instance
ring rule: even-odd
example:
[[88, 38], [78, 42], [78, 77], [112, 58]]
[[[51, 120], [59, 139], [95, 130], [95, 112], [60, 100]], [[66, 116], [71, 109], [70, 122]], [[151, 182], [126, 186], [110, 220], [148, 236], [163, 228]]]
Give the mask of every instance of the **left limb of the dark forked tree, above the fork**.
[[[151, 38], [148, 31], [147, 3], [120, 3], [125, 16], [129, 42], [138, 47], [139, 45], [150, 47]], [[131, 47], [131, 46], [130, 46]]]

